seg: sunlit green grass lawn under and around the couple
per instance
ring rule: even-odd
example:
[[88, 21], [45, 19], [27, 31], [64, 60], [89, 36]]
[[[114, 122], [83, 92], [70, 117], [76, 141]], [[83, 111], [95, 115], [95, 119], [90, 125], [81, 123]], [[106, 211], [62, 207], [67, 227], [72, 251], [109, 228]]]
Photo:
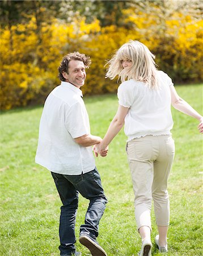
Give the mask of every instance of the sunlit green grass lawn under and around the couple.
[[[202, 113], [202, 85], [178, 86], [177, 92]], [[91, 133], [104, 136], [117, 110], [116, 95], [86, 97]], [[59, 255], [58, 222], [61, 201], [49, 171], [35, 164], [42, 108], [24, 108], [1, 115], [1, 247], [0, 255]], [[202, 255], [202, 135], [198, 121], [172, 110], [176, 143], [168, 183], [171, 225], [168, 254]], [[106, 158], [96, 159], [107, 209], [100, 221], [99, 243], [108, 256], [132, 256], [141, 240], [134, 218], [134, 195], [121, 131]], [[84, 221], [88, 201], [79, 197], [76, 234]], [[157, 228], [152, 210], [153, 245]], [[88, 250], [77, 241], [83, 256]], [[153, 255], [161, 255], [155, 245]]]

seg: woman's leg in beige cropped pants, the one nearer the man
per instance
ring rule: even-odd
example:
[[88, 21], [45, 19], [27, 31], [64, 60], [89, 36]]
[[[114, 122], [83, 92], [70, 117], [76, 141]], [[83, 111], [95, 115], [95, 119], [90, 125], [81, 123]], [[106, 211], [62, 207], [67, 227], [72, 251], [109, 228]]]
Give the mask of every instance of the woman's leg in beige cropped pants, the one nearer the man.
[[151, 231], [151, 185], [153, 161], [151, 161], [151, 138], [143, 137], [130, 141], [127, 146], [128, 161], [135, 195], [134, 206], [137, 228], [142, 240], [150, 240]]

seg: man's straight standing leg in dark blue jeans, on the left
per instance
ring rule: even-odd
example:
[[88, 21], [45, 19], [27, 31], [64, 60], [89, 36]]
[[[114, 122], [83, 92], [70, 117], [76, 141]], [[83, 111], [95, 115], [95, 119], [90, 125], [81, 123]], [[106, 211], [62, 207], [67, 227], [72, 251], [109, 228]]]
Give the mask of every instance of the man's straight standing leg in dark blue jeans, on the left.
[[61, 255], [71, 255], [75, 252], [75, 217], [78, 208], [78, 192], [74, 185], [64, 175], [52, 172], [58, 193], [63, 203], [60, 216]]

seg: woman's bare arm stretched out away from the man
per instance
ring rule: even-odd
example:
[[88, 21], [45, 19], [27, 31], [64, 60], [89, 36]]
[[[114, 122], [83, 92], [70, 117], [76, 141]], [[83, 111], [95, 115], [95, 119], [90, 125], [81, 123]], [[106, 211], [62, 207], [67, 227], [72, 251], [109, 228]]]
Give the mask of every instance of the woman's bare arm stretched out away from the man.
[[194, 110], [191, 105], [189, 105], [186, 101], [184, 101], [182, 98], [179, 97], [174, 85], [170, 86], [170, 90], [171, 90], [172, 106], [175, 109], [179, 110], [180, 112], [190, 115], [193, 118], [198, 119], [198, 121], [200, 121], [200, 124], [198, 125], [198, 129], [200, 130], [200, 133], [203, 133], [203, 117], [202, 117], [202, 115], [200, 115], [198, 112], [196, 112], [196, 110]]

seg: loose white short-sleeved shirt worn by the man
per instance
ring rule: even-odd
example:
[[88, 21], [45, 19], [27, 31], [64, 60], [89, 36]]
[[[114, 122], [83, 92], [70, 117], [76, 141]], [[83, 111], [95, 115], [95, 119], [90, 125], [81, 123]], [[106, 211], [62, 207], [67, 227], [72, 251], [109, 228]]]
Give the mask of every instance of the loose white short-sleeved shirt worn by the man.
[[36, 163], [57, 174], [79, 175], [94, 170], [92, 147], [74, 141], [84, 134], [90, 134], [90, 122], [82, 91], [69, 82], [61, 82], [45, 101]]

